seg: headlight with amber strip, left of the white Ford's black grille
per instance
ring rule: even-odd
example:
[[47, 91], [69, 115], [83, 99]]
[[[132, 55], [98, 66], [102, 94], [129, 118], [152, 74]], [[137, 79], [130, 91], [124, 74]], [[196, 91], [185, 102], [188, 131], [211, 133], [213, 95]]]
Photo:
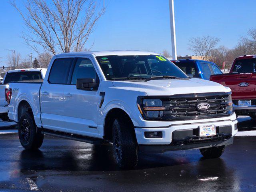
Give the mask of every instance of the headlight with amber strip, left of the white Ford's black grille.
[[142, 109], [148, 118], [161, 118], [166, 107], [160, 99], [144, 99]]

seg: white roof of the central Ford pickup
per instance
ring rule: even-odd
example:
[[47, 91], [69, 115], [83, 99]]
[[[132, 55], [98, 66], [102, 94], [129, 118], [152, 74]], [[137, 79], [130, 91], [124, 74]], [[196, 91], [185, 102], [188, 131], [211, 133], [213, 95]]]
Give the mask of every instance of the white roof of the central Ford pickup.
[[105, 56], [105, 55], [159, 55], [158, 53], [148, 51], [84, 51], [84, 52], [66, 52], [56, 56], [67, 56], [67, 55], [94, 55], [94, 56]]

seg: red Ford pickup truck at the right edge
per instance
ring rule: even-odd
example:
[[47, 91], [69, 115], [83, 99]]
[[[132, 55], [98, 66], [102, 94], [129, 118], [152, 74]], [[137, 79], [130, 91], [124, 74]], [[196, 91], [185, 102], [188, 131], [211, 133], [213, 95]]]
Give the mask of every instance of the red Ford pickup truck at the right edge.
[[256, 119], [256, 55], [244, 55], [234, 60], [229, 74], [212, 75], [210, 80], [232, 90], [236, 115]]

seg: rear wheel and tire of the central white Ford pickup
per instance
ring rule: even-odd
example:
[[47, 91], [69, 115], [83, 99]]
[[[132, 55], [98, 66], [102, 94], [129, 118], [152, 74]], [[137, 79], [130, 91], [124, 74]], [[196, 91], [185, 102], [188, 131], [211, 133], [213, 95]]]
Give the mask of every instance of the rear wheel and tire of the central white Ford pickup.
[[25, 149], [38, 149], [44, 141], [44, 135], [37, 130], [34, 118], [28, 112], [24, 112], [19, 120], [19, 139]]

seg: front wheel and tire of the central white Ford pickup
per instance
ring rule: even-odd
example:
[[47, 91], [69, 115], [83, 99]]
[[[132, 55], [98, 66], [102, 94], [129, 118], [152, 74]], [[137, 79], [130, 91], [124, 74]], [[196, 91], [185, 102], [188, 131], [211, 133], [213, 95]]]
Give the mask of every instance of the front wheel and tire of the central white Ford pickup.
[[128, 119], [114, 120], [112, 136], [114, 158], [118, 166], [134, 168], [138, 162], [138, 144], [134, 129]]

